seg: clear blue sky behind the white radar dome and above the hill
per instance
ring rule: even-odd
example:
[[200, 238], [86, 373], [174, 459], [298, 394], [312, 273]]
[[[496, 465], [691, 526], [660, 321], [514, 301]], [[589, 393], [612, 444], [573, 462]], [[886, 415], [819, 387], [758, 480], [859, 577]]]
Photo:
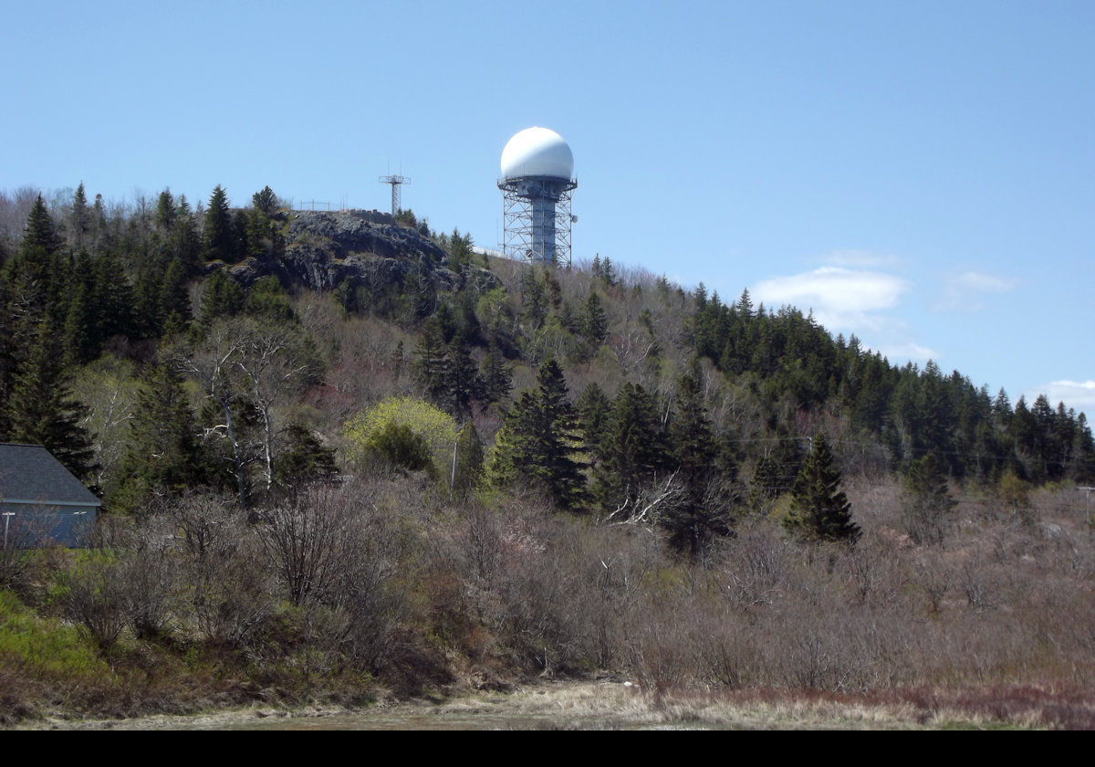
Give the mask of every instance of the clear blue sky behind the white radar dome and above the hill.
[[575, 156], [576, 259], [791, 304], [1095, 413], [1095, 3], [5, 9], [0, 190], [387, 209], [500, 239], [506, 141]]

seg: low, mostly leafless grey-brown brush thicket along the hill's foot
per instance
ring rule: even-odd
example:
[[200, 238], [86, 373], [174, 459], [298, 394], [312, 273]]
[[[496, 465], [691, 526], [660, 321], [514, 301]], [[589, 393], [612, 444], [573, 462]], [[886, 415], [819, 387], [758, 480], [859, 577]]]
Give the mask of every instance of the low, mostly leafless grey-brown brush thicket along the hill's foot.
[[451, 502], [422, 476], [318, 485], [257, 520], [193, 495], [105, 526], [108, 548], [26, 554], [0, 593], [7, 716], [534, 676], [658, 695], [1090, 689], [1095, 545], [1065, 492], [1022, 515], [963, 499], [923, 545], [899, 531], [898, 488], [863, 484], [855, 546], [753, 516], [701, 558], [537, 496]]

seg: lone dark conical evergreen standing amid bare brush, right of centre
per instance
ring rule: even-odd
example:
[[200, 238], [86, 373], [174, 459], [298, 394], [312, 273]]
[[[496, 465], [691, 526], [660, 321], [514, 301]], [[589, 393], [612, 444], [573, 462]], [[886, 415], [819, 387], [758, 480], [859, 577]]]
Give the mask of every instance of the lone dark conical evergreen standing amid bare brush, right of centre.
[[825, 435], [814, 437], [814, 447], [795, 479], [791, 514], [783, 526], [807, 540], [854, 543], [860, 526], [852, 522], [852, 504], [840, 491], [840, 472]]

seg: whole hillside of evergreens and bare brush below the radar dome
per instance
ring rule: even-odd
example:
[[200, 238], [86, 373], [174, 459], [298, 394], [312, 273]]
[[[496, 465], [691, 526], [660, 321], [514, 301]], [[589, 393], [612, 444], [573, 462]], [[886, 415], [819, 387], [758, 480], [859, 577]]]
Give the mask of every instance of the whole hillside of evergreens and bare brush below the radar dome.
[[[25, 610], [165, 668], [228, 653], [290, 698], [362, 672], [1030, 684], [1084, 653], [1090, 682], [1095, 560], [1038, 511], [1095, 480], [1083, 413], [898, 367], [748, 291], [473, 245], [269, 187], [0, 194], [0, 442], [45, 445], [105, 503], [101, 556], [4, 549], [0, 634]], [[1005, 577], [1028, 556], [1048, 591]], [[958, 595], [977, 668], [940, 644]], [[1022, 646], [990, 646], [990, 605], [1036, 611]], [[1051, 609], [1084, 627], [1057, 652]], [[49, 675], [16, 655], [39, 699]]]

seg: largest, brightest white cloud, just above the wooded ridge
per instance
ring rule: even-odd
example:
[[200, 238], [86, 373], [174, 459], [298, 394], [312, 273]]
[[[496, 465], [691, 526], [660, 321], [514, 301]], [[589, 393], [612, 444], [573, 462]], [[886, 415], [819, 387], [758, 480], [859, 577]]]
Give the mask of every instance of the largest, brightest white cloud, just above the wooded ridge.
[[892, 274], [843, 266], [821, 266], [812, 272], [762, 279], [751, 290], [754, 304], [770, 308], [793, 306], [814, 310], [814, 318], [826, 329], [878, 330], [885, 318], [874, 312], [892, 309], [909, 284]]

